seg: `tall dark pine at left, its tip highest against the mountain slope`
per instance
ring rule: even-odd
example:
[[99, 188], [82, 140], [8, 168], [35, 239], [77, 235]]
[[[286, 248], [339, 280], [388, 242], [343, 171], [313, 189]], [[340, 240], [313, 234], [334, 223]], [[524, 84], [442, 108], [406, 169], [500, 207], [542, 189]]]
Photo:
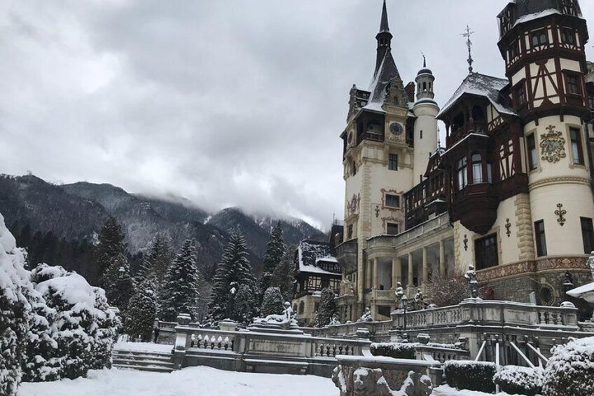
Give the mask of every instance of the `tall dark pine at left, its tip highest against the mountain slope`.
[[126, 243], [122, 226], [115, 217], [109, 217], [99, 232], [99, 243], [95, 246], [94, 252], [100, 285], [104, 285], [103, 275], [111, 266], [111, 262], [120, 254], [125, 254], [125, 251]]

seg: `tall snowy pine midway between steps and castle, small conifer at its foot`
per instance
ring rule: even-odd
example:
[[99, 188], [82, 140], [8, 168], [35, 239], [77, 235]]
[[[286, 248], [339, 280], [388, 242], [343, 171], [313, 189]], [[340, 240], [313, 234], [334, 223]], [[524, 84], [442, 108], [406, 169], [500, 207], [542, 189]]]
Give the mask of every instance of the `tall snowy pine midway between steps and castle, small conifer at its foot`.
[[[252, 295], [258, 294], [256, 280], [247, 259], [247, 246], [241, 233], [232, 233], [223, 254], [223, 259], [216, 267], [212, 292], [209, 302], [209, 316], [213, 320], [223, 320], [232, 313], [228, 310], [231, 289], [239, 292], [240, 286], [246, 285]], [[254, 301], [257, 306], [257, 302]]]

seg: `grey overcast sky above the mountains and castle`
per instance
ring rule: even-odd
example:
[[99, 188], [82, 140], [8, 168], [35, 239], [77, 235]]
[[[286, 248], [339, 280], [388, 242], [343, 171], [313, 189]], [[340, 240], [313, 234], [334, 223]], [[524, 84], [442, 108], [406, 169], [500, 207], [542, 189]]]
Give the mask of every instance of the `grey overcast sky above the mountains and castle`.
[[[507, 3], [388, 0], [403, 80], [422, 51], [445, 103], [467, 74], [467, 23], [475, 71], [504, 76], [496, 16]], [[586, 18], [593, 3], [581, 1]], [[371, 81], [381, 4], [0, 1], [0, 173], [326, 228], [343, 217], [338, 135], [350, 87]]]

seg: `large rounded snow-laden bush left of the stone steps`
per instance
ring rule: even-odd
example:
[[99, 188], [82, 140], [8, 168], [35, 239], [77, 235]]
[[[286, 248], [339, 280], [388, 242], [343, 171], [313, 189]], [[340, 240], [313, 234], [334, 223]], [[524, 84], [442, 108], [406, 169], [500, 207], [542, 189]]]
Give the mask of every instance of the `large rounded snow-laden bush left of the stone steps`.
[[[109, 309], [103, 289], [91, 287], [77, 273], [47, 264], [34, 268], [31, 280], [48, 308], [54, 311], [46, 332], [51, 334], [56, 346], [49, 356], [43, 356], [43, 351], [39, 354], [41, 359], [59, 362], [53, 376], [72, 379], [86, 376], [89, 369], [109, 367], [118, 319]], [[55, 379], [53, 376], [45, 379]]]

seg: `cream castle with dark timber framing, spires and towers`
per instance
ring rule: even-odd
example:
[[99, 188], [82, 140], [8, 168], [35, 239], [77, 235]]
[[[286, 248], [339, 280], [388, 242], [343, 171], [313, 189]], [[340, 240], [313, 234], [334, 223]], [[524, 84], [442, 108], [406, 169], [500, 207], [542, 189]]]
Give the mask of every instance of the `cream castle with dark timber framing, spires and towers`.
[[342, 320], [365, 308], [388, 319], [398, 282], [410, 298], [469, 265], [492, 299], [530, 302], [534, 292], [539, 305], [558, 305], [567, 287], [588, 282], [594, 73], [586, 20], [576, 0], [510, 1], [497, 18], [505, 78], [470, 67], [440, 109], [425, 64], [404, 84], [384, 1], [373, 83], [350, 90], [340, 135], [345, 219], [331, 245], [342, 268]]

